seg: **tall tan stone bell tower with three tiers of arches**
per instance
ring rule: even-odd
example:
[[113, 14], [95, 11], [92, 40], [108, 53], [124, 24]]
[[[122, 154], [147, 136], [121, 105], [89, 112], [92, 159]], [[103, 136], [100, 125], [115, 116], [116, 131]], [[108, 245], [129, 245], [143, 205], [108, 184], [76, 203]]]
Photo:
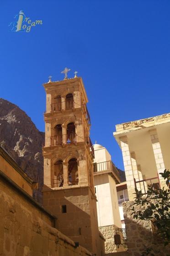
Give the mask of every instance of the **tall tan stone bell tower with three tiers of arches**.
[[57, 229], [102, 255], [93, 181], [94, 149], [83, 81], [43, 85], [46, 91], [43, 205], [58, 218]]

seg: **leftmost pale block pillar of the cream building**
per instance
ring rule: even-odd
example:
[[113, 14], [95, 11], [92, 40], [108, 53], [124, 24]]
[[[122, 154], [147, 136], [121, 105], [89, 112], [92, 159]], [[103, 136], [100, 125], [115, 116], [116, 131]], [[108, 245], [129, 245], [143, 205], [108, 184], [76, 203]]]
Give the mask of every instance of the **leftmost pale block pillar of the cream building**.
[[123, 163], [125, 168], [127, 187], [128, 187], [128, 196], [129, 200], [133, 200], [135, 195], [135, 184], [134, 184], [134, 176], [133, 176], [133, 167], [131, 162], [131, 155], [128, 146], [128, 138], [127, 136], [123, 136], [120, 138], [122, 155], [123, 155]]

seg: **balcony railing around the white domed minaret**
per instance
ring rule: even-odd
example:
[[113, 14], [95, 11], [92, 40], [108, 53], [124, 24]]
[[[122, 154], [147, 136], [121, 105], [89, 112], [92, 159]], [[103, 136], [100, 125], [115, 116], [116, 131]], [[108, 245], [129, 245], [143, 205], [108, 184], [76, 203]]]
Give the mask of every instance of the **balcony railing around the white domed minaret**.
[[119, 171], [117, 171], [116, 166], [112, 163], [112, 161], [105, 161], [101, 163], [94, 163], [94, 172], [100, 172], [100, 171], [112, 171], [115, 174], [117, 182], [120, 181], [120, 174]]

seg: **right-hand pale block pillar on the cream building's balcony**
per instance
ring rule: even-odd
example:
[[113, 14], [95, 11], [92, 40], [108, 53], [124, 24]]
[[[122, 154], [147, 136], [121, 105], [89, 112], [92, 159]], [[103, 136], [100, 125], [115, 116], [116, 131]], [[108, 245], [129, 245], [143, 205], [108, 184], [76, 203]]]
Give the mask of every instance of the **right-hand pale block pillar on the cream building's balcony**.
[[[150, 130], [149, 134], [150, 134], [150, 138], [151, 138], [151, 142], [152, 142], [152, 148], [154, 151], [154, 159], [155, 159], [156, 168], [157, 168], [158, 175], [159, 175], [160, 186], [161, 186], [161, 188], [163, 188], [163, 187], [166, 187], [166, 183], [165, 183], [164, 178], [162, 178], [162, 176], [160, 175], [160, 172], [164, 172], [165, 165], [164, 165], [162, 151], [161, 151], [161, 147], [160, 147], [160, 143], [159, 143], [158, 134], [157, 134], [156, 129]], [[156, 181], [156, 180], [153, 180], [153, 182], [154, 181]]]

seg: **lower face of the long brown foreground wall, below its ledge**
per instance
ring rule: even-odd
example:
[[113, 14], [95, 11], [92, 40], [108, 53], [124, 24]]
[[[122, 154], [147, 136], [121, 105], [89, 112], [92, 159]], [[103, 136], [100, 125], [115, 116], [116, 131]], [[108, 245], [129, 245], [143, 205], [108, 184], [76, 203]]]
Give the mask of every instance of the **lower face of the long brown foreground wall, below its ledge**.
[[0, 176], [0, 256], [92, 256], [53, 228], [50, 216]]

